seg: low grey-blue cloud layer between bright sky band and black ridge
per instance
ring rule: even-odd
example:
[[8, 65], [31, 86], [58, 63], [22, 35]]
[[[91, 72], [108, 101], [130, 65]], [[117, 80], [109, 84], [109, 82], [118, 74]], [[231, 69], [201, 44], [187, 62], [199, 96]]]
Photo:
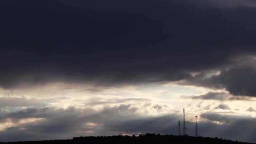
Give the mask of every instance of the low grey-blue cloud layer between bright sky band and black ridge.
[[[8, 118], [8, 119], [6, 119]], [[39, 119], [33, 123], [29, 119]], [[177, 134], [178, 120], [182, 112], [157, 117], [141, 117], [127, 105], [106, 107], [102, 111], [92, 109], [27, 109], [1, 117], [2, 125], [8, 120], [11, 128], [0, 132], [2, 141], [67, 139], [72, 136], [117, 135], [161, 133]], [[203, 113], [199, 121], [201, 136], [220, 137], [251, 141], [253, 139], [254, 118], [251, 116]], [[19, 123], [23, 120], [23, 123]], [[187, 133], [193, 135], [195, 123], [187, 121]], [[239, 130], [239, 131], [238, 131]], [[244, 135], [240, 135], [243, 131]], [[12, 137], [10, 137], [12, 136]]]

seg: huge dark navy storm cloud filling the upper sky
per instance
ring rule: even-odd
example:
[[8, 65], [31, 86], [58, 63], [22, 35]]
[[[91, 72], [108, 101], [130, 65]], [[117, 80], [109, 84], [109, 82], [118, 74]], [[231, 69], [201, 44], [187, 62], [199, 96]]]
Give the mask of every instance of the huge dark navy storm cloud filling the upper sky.
[[227, 2], [1, 2], [0, 85], [178, 81], [220, 69], [256, 44], [253, 2]]

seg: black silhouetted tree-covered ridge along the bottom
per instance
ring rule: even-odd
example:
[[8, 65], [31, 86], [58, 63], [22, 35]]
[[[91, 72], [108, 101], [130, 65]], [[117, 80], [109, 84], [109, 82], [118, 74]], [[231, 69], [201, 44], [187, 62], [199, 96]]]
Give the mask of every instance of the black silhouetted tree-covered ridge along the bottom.
[[226, 139], [147, 133], [139, 136], [87, 136], [67, 140], [18, 141], [0, 144], [252, 144]]

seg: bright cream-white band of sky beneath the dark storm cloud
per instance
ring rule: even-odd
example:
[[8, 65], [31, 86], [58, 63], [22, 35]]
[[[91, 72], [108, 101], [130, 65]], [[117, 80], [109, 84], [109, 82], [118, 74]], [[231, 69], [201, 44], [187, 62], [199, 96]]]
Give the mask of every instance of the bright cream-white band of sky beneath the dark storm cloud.
[[[67, 109], [92, 108], [97, 111], [105, 107], [119, 107], [123, 105], [140, 115], [165, 115], [181, 113], [185, 108], [188, 117], [207, 112], [232, 112], [237, 114], [247, 112], [253, 107], [253, 101], [219, 101], [206, 99], [190, 99], [189, 96], [199, 96], [211, 89], [176, 85], [175, 83], [151, 83], [145, 85], [130, 85], [124, 87], [95, 87], [93, 85], [72, 85], [68, 83], [51, 83], [35, 86], [34, 88], [20, 88], [12, 91], [1, 90], [0, 99], [10, 106], [2, 106], [1, 113], [15, 112], [31, 107], [59, 107]], [[216, 91], [215, 91], [216, 92]], [[20, 93], [20, 94], [19, 94]], [[182, 98], [188, 96], [188, 98]], [[216, 109], [219, 104], [227, 104], [230, 109]], [[239, 106], [239, 107], [238, 107]], [[255, 108], [255, 107], [253, 107]]]

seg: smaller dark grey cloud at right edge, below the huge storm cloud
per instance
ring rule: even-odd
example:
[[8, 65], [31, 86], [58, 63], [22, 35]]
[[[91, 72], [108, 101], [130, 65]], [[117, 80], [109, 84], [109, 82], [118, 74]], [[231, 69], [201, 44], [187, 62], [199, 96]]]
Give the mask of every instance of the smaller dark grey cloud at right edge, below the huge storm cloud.
[[[255, 61], [253, 61], [255, 62]], [[253, 63], [254, 64], [254, 63]], [[230, 94], [238, 97], [233, 97], [231, 100], [243, 98], [239, 96], [256, 96], [256, 90], [254, 83], [256, 83], [256, 68], [253, 64], [238, 65], [228, 70], [223, 70], [220, 75], [213, 77], [206, 77], [205, 74], [201, 73], [192, 77], [191, 79], [185, 80], [183, 84], [205, 86], [209, 88], [224, 89]], [[205, 97], [219, 97], [218, 93], [208, 93]], [[227, 94], [226, 94], [227, 95]]]

